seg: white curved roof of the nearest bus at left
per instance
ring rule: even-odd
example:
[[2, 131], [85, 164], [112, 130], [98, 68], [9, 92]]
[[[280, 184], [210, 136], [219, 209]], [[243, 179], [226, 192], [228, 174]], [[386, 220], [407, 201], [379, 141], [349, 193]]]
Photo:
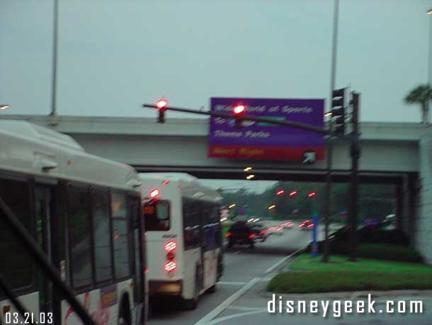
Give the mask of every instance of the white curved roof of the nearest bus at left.
[[129, 165], [86, 153], [70, 136], [26, 121], [0, 121], [0, 170], [101, 186], [140, 186]]

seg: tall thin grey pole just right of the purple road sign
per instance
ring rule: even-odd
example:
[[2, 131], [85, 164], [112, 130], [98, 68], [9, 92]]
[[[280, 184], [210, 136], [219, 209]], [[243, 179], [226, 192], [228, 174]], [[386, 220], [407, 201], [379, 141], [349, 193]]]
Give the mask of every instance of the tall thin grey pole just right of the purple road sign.
[[[336, 87], [336, 58], [338, 48], [338, 25], [339, 25], [339, 0], [334, 0], [334, 13], [333, 13], [333, 39], [331, 44], [331, 73], [330, 73], [330, 99], [329, 111], [331, 109], [331, 98], [333, 91]], [[331, 129], [331, 119], [329, 121], [329, 128]], [[323, 258], [324, 263], [329, 262], [329, 219], [331, 215], [331, 165], [333, 163], [333, 143], [331, 137], [327, 138], [327, 168], [326, 168], [326, 205], [324, 206], [324, 249]]]

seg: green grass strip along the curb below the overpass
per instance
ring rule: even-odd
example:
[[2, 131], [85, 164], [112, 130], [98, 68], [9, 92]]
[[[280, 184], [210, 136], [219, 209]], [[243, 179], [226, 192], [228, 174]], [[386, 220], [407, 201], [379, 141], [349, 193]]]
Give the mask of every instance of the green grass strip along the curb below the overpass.
[[362, 259], [349, 262], [332, 255], [329, 263], [302, 254], [290, 272], [275, 275], [267, 290], [278, 293], [310, 293], [363, 290], [432, 289], [432, 267], [416, 263]]

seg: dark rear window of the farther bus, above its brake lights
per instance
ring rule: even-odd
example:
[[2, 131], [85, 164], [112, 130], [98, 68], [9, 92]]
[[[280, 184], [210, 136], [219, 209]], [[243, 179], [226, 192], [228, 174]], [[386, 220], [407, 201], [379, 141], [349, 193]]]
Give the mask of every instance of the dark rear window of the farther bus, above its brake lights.
[[169, 201], [153, 200], [144, 204], [146, 231], [167, 231], [170, 226]]

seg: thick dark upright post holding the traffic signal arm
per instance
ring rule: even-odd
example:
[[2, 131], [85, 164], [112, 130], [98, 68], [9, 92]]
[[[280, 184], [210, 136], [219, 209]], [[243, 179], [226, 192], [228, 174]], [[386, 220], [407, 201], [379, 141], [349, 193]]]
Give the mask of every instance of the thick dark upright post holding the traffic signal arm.
[[360, 159], [360, 132], [358, 131], [358, 111], [360, 106], [360, 94], [353, 92], [353, 132], [351, 133], [351, 197], [348, 209], [350, 221], [350, 257], [349, 260], [358, 260], [358, 160]]

